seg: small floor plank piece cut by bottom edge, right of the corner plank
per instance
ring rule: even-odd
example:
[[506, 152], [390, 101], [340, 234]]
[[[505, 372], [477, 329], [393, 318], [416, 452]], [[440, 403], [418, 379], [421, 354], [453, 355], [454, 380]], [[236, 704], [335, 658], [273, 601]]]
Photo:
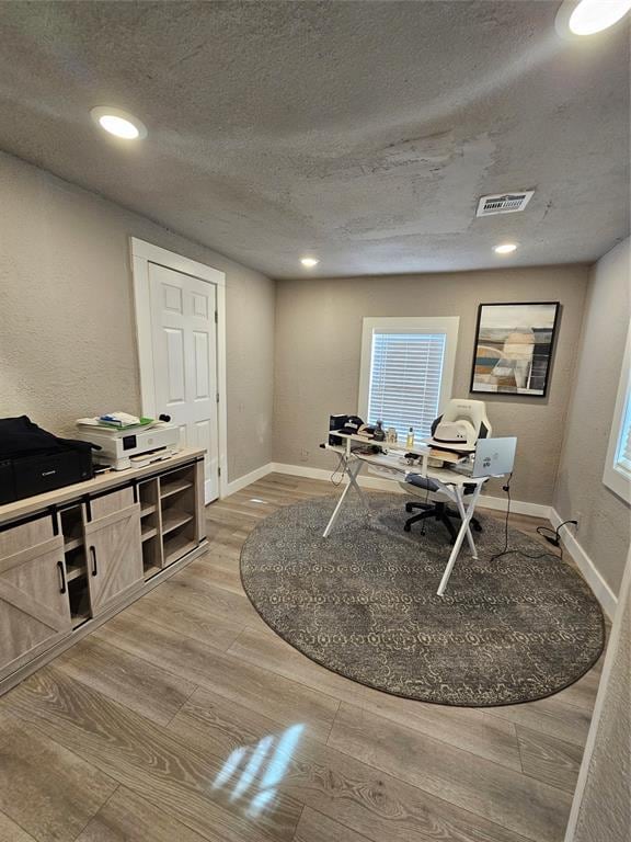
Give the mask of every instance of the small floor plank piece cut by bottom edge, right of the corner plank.
[[206, 842], [206, 840], [136, 793], [119, 786], [90, 821], [77, 842]]

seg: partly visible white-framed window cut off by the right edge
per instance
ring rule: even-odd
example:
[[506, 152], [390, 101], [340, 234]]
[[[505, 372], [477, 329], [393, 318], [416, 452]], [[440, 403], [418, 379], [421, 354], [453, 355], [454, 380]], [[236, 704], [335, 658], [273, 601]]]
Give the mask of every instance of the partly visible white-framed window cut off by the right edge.
[[631, 503], [631, 328], [627, 335], [603, 482]]

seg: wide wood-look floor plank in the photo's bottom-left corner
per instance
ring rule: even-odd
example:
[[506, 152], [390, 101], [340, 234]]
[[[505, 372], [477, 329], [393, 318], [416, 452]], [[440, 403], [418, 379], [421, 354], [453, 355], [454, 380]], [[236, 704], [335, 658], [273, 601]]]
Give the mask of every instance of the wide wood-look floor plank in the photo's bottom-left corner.
[[34, 732], [2, 705], [0, 810], [26, 833], [38, 842], [72, 842], [115, 788], [95, 764], [53, 735]]

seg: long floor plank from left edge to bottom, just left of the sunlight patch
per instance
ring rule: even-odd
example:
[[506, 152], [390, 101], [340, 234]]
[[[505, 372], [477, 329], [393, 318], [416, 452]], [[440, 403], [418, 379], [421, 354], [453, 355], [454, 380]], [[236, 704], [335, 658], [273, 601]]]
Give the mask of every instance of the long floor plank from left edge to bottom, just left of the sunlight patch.
[[[33, 731], [50, 735], [210, 842], [288, 842], [294, 835], [301, 812], [295, 798], [278, 793], [266, 811], [249, 813], [214, 788], [220, 760], [54, 667], [39, 670], [5, 699]], [[73, 797], [84, 793], [85, 781]]]

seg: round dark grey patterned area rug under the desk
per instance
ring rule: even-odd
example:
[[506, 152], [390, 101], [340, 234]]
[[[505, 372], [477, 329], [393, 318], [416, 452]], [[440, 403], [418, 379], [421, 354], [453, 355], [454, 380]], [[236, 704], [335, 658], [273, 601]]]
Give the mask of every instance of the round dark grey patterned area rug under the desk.
[[[241, 579], [280, 637], [313, 661], [394, 695], [467, 707], [549, 696], [577, 681], [605, 642], [603, 613], [578, 573], [551, 556], [513, 554], [504, 524], [480, 516], [479, 560], [464, 545], [444, 596], [444, 526], [403, 532], [405, 497], [369, 494], [369, 524], [348, 503], [328, 538], [334, 501], [280, 509], [250, 535]], [[517, 530], [509, 547], [544, 551]]]

